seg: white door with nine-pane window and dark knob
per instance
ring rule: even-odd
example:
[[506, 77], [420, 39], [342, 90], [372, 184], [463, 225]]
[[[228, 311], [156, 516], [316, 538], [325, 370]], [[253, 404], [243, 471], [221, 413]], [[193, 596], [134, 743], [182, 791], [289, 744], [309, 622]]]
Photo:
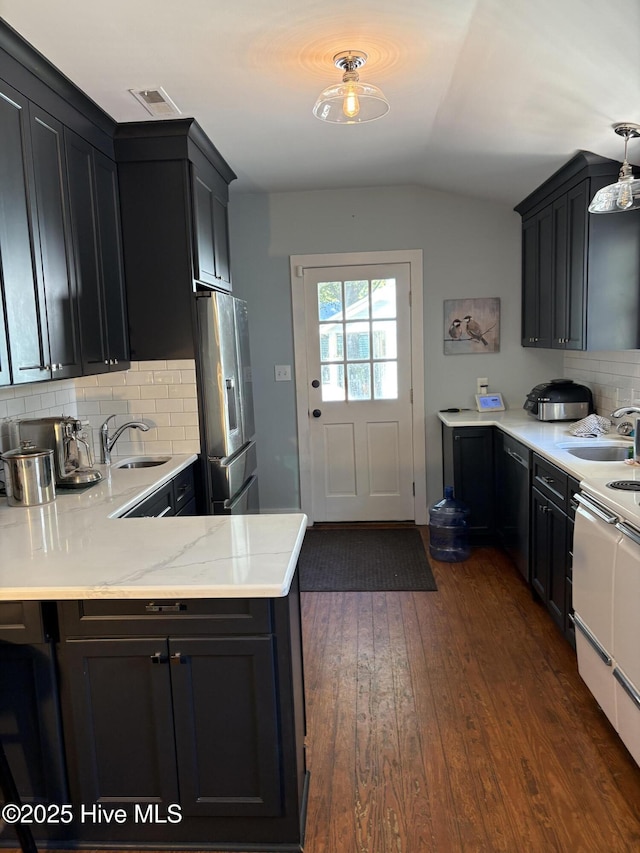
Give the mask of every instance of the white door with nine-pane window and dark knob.
[[413, 520], [408, 263], [304, 270], [315, 521]]

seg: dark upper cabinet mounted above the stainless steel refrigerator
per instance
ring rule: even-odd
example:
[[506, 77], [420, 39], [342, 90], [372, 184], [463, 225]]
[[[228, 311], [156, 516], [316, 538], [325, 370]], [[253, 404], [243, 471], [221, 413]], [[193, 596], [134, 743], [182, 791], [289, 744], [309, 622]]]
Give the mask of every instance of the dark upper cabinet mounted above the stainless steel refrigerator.
[[231, 287], [234, 173], [193, 119], [118, 125], [131, 357], [194, 357], [193, 293]]

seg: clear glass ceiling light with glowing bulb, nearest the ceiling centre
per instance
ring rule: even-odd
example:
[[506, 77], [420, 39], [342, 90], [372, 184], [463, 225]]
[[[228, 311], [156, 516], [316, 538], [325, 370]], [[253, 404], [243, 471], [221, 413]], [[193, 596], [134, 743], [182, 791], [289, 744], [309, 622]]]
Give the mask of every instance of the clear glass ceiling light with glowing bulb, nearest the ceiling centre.
[[362, 124], [389, 112], [389, 102], [380, 89], [360, 80], [358, 69], [367, 59], [361, 50], [344, 50], [333, 57], [336, 68], [344, 71], [342, 83], [320, 93], [313, 108], [316, 118], [333, 124]]

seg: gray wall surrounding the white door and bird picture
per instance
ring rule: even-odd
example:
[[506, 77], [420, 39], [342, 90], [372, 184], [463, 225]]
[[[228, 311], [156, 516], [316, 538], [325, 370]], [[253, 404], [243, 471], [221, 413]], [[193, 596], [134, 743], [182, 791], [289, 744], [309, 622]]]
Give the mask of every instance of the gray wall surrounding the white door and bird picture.
[[[424, 253], [425, 400], [429, 504], [442, 491], [438, 409], [473, 406], [487, 376], [507, 407], [562, 375], [562, 355], [520, 346], [520, 217], [509, 207], [419, 187], [233, 195], [234, 292], [250, 309], [260, 499], [265, 511], [298, 509], [295, 382], [289, 256], [388, 249]], [[443, 300], [499, 297], [498, 353], [443, 354]]]

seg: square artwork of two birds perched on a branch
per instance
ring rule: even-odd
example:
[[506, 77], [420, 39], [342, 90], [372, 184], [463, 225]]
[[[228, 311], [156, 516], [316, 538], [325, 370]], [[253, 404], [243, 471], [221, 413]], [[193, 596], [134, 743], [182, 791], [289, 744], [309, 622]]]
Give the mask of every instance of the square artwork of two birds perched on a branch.
[[500, 351], [500, 300], [497, 297], [444, 300], [444, 354]]

